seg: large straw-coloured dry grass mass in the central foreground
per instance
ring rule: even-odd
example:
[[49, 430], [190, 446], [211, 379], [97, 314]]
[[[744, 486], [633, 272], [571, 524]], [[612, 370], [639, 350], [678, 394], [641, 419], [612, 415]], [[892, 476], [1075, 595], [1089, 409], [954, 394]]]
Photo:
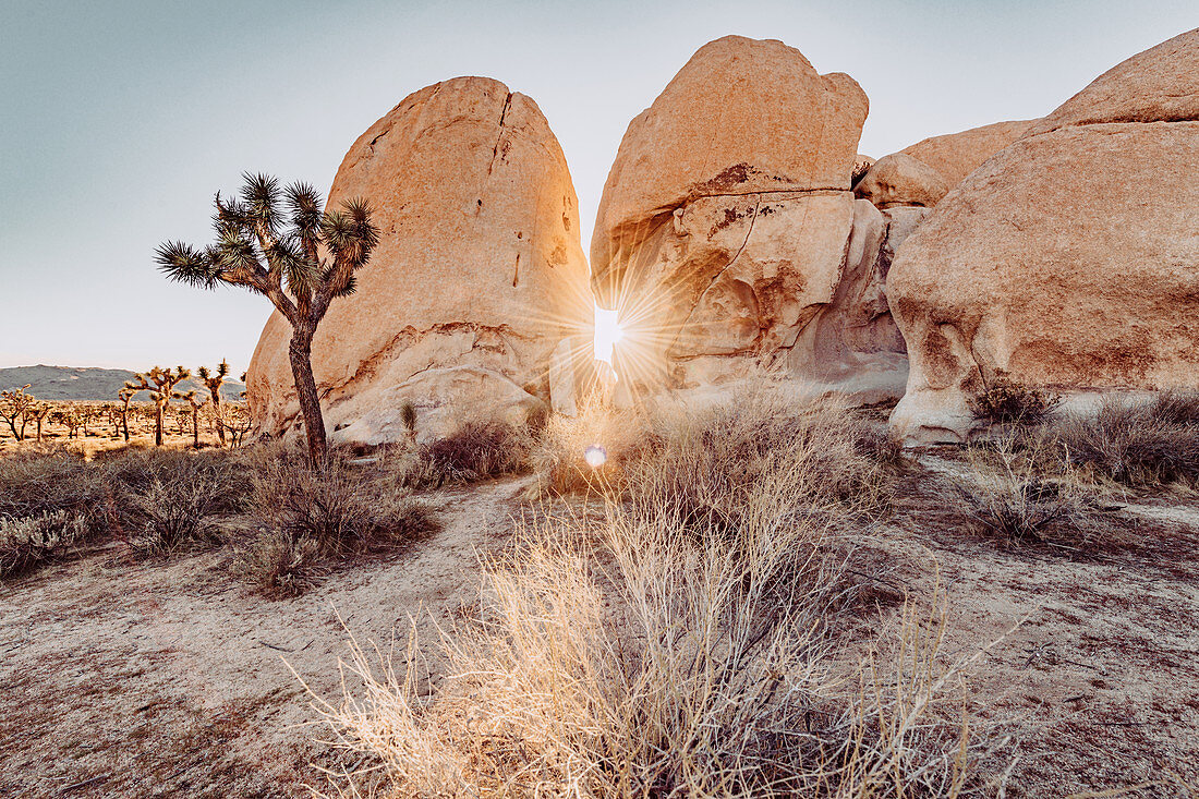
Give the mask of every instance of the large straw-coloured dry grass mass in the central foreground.
[[404, 797], [962, 795], [974, 750], [942, 715], [935, 619], [910, 605], [861, 661], [831, 632], [862, 456], [741, 408], [663, 422], [602, 522], [520, 527], [432, 693], [415, 641], [381, 672], [354, 645], [344, 701], [320, 705], [337, 744]]

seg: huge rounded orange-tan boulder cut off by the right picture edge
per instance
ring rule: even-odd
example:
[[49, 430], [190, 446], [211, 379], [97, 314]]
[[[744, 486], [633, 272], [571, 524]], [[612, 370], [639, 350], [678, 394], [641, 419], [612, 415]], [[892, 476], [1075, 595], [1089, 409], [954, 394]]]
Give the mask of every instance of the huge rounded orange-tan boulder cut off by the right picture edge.
[[1199, 30], [1128, 59], [972, 172], [887, 281], [911, 356], [892, 426], [963, 440], [996, 378], [1199, 386]]

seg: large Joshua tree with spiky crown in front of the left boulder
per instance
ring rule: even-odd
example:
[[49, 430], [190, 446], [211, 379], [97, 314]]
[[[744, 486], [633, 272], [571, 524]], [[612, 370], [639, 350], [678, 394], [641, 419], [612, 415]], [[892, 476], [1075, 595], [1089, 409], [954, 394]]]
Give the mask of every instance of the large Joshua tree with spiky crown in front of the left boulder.
[[364, 200], [329, 211], [307, 184], [281, 188], [267, 175], [247, 173], [243, 179], [240, 199], [216, 196], [216, 244], [197, 250], [168, 241], [156, 260], [171, 280], [203, 288], [242, 286], [275, 304], [291, 325], [288, 355], [308, 457], [323, 465], [329, 444], [312, 374], [312, 337], [330, 304], [354, 292], [354, 272], [369, 260], [379, 229]]

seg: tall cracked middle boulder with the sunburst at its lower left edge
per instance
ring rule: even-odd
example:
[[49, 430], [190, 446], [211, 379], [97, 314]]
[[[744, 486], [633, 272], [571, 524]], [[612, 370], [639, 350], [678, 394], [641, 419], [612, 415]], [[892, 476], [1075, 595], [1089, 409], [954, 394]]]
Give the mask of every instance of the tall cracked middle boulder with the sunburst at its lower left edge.
[[[591, 245], [597, 300], [626, 329], [622, 391], [763, 371], [845, 377], [852, 341], [891, 346], [885, 334], [851, 341], [835, 328], [854, 314], [826, 313], [866, 292], [884, 234], [850, 192], [866, 113], [852, 78], [820, 76], [782, 42], [730, 36], [629, 124]], [[823, 334], [805, 335], [818, 317]], [[818, 368], [818, 349], [844, 361]]]

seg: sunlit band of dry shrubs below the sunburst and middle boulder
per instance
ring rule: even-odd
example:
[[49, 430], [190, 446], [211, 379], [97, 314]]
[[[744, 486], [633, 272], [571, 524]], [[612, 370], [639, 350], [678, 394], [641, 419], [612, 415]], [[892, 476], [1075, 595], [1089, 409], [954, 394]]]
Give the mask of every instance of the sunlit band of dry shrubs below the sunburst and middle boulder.
[[[600, 467], [585, 459], [592, 445], [604, 447]], [[788, 464], [809, 495], [879, 510], [904, 468], [902, 446], [880, 426], [832, 401], [765, 391], [640, 411], [589, 407], [552, 420], [532, 461], [553, 493], [631, 492], [637, 499], [649, 492], [673, 498], [693, 521], [731, 521], [739, 497], [778, 464]], [[700, 494], [717, 505], [697, 503]]]

